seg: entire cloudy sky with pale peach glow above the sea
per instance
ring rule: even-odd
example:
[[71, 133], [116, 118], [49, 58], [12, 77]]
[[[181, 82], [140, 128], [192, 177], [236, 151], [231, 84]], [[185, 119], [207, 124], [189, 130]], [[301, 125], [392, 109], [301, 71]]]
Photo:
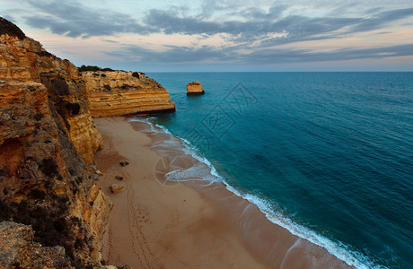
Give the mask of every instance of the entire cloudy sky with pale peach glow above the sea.
[[0, 0], [0, 16], [77, 66], [413, 71], [412, 0]]

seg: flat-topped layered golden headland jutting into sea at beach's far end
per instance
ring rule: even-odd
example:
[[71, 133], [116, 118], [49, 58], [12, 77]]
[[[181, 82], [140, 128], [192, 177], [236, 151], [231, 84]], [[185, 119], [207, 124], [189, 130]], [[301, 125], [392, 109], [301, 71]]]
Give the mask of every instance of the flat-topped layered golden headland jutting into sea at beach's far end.
[[124, 71], [82, 72], [92, 117], [174, 111], [163, 87], [145, 74]]

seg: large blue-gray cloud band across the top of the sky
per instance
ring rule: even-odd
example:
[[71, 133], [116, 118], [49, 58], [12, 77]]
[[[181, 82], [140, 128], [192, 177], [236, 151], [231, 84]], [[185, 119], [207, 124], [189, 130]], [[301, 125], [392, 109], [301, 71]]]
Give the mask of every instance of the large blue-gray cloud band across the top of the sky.
[[[335, 15], [313, 17], [303, 13], [286, 13], [291, 9], [287, 4], [273, 4], [264, 11], [256, 6], [236, 7], [232, 2], [223, 4], [211, 0], [202, 6], [202, 11], [209, 14], [207, 16], [205, 13], [188, 14], [187, 7], [172, 6], [168, 10], [149, 10], [143, 18], [137, 20], [124, 13], [92, 10], [76, 1], [28, 0], [27, 3], [38, 12], [26, 16], [26, 23], [73, 38], [114, 36], [119, 33], [202, 36], [226, 34], [228, 40], [252, 43], [262, 36], [287, 33], [284, 38], [268, 39], [261, 46], [339, 38], [357, 32], [379, 30], [391, 22], [413, 16], [413, 8], [382, 12], [382, 8], [376, 7], [370, 9], [368, 14], [358, 17], [339, 16], [337, 11]], [[224, 15], [214, 17], [217, 10], [224, 12]], [[228, 19], [233, 17], [237, 19]]]

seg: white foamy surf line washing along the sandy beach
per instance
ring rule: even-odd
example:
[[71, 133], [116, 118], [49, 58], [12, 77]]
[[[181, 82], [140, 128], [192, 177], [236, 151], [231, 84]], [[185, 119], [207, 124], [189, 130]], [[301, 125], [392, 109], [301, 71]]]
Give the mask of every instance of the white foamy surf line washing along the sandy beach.
[[[216, 171], [214, 165], [208, 161], [202, 154], [199, 153], [198, 149], [192, 145], [187, 139], [180, 137], [171, 132], [164, 126], [154, 124], [150, 121], [149, 117], [133, 117], [130, 118], [131, 122], [141, 122], [149, 126], [149, 129], [145, 129], [144, 132], [149, 133], [163, 133], [169, 134], [171, 137], [175, 137], [180, 141], [182, 146], [183, 153], [191, 156], [192, 158], [199, 161], [204, 165], [195, 165], [186, 169], [175, 169], [167, 173], [165, 176], [167, 180], [170, 181], [203, 181], [206, 182], [206, 185], [210, 185], [216, 182], [223, 183], [226, 189], [232, 192], [234, 195], [240, 196], [245, 200], [248, 200], [251, 204], [255, 204], [259, 207], [259, 210], [264, 213], [268, 219], [274, 224], [281, 226], [291, 232], [293, 235], [298, 236], [302, 239], [307, 239], [320, 247], [324, 247], [331, 255], [336, 256], [339, 260], [345, 262], [349, 266], [354, 266], [356, 268], [365, 269], [365, 268], [374, 268], [374, 269], [383, 269], [387, 268], [382, 265], [374, 264], [374, 261], [371, 260], [368, 256], [363, 255], [356, 250], [353, 250], [352, 247], [340, 242], [333, 241], [328, 239], [317, 232], [310, 230], [304, 227], [301, 224], [298, 224], [292, 221], [280, 210], [277, 210], [277, 205], [268, 201], [268, 199], [260, 197], [259, 194], [247, 194], [242, 193], [236, 188], [232, 187], [228, 182], [224, 180], [223, 177], [219, 175]], [[168, 145], [170, 143], [165, 143]]]

